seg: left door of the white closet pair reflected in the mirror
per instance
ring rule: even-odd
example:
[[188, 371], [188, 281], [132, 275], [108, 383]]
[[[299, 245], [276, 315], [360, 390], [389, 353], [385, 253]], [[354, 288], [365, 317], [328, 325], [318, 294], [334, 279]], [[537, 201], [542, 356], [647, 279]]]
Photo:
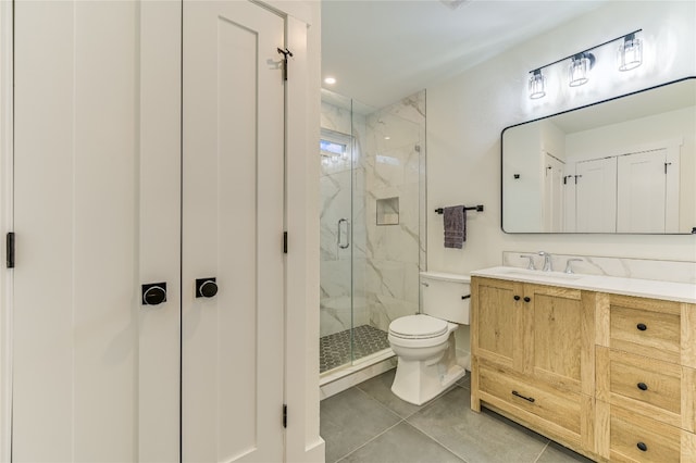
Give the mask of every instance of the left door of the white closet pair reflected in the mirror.
[[577, 233], [617, 230], [617, 159], [575, 165], [575, 227]]

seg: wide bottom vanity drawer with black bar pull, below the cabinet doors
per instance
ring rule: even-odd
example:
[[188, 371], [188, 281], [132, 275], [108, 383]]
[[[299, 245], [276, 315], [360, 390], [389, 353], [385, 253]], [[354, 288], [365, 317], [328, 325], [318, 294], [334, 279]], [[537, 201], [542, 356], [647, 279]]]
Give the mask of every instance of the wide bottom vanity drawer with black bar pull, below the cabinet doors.
[[[551, 422], [573, 435], [581, 434], [581, 395], [533, 381], [519, 373], [484, 361], [478, 368], [478, 389], [504, 402]], [[483, 396], [485, 400], [485, 396]]]

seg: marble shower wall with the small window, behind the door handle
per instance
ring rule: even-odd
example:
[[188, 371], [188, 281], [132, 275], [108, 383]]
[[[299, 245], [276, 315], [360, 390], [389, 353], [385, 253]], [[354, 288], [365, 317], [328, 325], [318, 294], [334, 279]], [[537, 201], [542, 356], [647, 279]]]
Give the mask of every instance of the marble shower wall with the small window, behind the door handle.
[[[364, 214], [364, 157], [362, 140], [365, 139], [364, 116], [353, 114], [350, 109], [322, 102], [322, 136], [341, 135], [350, 140], [352, 135], [355, 170], [351, 160], [338, 159], [320, 162], [320, 336], [333, 335], [369, 323], [365, 297], [366, 254]], [[352, 186], [351, 186], [352, 183]], [[353, 192], [355, 191], [355, 192]], [[351, 198], [352, 193], [352, 198]], [[352, 209], [352, 213], [351, 213]], [[352, 236], [350, 247], [338, 247], [338, 221], [350, 221]], [[353, 260], [352, 286], [355, 288], [351, 311], [351, 258]]]

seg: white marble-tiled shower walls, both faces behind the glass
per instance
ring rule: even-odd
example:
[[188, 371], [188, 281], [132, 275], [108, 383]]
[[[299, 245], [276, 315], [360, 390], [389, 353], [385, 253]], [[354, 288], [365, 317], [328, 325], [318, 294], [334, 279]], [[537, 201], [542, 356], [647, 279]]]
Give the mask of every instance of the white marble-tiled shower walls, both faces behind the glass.
[[[351, 326], [351, 252], [353, 323], [383, 330], [418, 312], [425, 262], [425, 91], [366, 116], [352, 114], [352, 123], [350, 116], [322, 103], [322, 129], [352, 132], [356, 152], [352, 173], [349, 162], [321, 167], [321, 336]], [[350, 213], [351, 182], [353, 236], [344, 250], [337, 222]], [[387, 198], [399, 198], [399, 222], [377, 225], [377, 200]]]

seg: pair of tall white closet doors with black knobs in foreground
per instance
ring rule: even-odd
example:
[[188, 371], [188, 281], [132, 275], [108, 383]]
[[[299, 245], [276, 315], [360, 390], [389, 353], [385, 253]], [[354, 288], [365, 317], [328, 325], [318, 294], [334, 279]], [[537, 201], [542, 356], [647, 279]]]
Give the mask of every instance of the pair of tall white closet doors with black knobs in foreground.
[[13, 461], [282, 461], [284, 18], [14, 16]]

